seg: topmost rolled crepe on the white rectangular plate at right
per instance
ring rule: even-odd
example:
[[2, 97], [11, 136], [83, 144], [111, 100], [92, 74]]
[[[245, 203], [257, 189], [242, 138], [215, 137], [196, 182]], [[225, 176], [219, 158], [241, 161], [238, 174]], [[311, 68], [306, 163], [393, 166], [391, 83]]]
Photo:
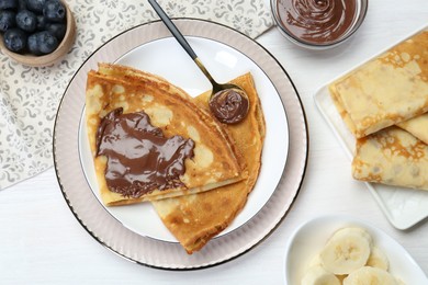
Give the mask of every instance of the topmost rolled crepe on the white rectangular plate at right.
[[329, 86], [350, 132], [361, 138], [428, 111], [428, 31]]

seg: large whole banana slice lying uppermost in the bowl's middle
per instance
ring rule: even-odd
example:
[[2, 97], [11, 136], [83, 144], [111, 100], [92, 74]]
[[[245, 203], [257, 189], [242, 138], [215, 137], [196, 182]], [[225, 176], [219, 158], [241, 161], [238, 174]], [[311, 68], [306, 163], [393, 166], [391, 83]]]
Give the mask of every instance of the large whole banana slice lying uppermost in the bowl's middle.
[[336, 231], [319, 253], [322, 265], [329, 272], [349, 274], [365, 265], [371, 252], [371, 236], [361, 228]]

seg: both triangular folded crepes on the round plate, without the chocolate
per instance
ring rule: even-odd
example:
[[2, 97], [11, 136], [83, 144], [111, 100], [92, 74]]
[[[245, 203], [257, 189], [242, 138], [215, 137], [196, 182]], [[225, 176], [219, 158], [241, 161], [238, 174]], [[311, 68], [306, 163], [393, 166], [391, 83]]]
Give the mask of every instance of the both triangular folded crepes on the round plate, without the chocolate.
[[[209, 112], [207, 93], [193, 99], [167, 80], [129, 67], [99, 64], [87, 82], [87, 129], [101, 197], [116, 206], [153, 203], [159, 217], [188, 253], [200, 250], [225, 229], [245, 206], [261, 167], [264, 119], [252, 77], [234, 80], [249, 96], [250, 110], [239, 124], [218, 123]], [[108, 187], [108, 158], [97, 156], [101, 119], [121, 107], [144, 111], [165, 136], [194, 141], [194, 157], [185, 160], [182, 186], [124, 196]]]

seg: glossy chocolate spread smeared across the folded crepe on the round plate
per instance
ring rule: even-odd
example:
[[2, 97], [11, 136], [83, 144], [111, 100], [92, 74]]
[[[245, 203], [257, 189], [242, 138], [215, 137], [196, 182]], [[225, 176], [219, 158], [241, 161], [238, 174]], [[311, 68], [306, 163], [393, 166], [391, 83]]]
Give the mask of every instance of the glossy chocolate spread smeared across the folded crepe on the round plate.
[[193, 158], [194, 141], [167, 138], [150, 124], [145, 112], [111, 111], [97, 130], [97, 156], [106, 156], [105, 180], [110, 191], [139, 197], [154, 190], [184, 186], [187, 158]]

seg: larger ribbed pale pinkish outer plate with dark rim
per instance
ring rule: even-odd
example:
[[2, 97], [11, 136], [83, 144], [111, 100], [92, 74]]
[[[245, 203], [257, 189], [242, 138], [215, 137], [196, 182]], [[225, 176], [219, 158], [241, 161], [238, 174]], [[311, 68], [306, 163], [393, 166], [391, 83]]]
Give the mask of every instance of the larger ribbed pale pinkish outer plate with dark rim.
[[[174, 22], [185, 36], [191, 37], [191, 44], [195, 45], [196, 53], [199, 53], [199, 43], [193, 39], [204, 38], [201, 42], [202, 44], [205, 39], [210, 39], [211, 43], [216, 43], [217, 46], [227, 46], [224, 49], [228, 52], [227, 54], [234, 55], [234, 53], [237, 53], [241, 54], [244, 59], [251, 59], [254, 64], [250, 66], [255, 68], [251, 72], [257, 73], [262, 70], [262, 73], [269, 78], [270, 84], [275, 90], [272, 93], [264, 93], [263, 91], [260, 94], [261, 98], [264, 98], [262, 100], [267, 100], [264, 101], [267, 103], [263, 103], [266, 115], [269, 116], [270, 107], [273, 104], [281, 105], [286, 111], [288, 126], [273, 123], [272, 129], [288, 127], [288, 145], [264, 146], [266, 151], [269, 147], [272, 148], [270, 151], [275, 153], [284, 151], [288, 147], [290, 148], [286, 155], [286, 163], [284, 157], [270, 156], [273, 160], [278, 160], [278, 166], [285, 163], [285, 168], [279, 170], [282, 174], [281, 179], [264, 206], [261, 205], [256, 215], [250, 214], [254, 216], [241, 226], [227, 235], [211, 240], [201, 251], [189, 255], [178, 242], [147, 238], [129, 230], [128, 227], [125, 227], [113, 217], [93, 194], [81, 166], [81, 153], [79, 153], [80, 125], [85, 112], [88, 71], [97, 69], [97, 64], [100, 61], [114, 62], [123, 58], [124, 55], [128, 55], [127, 53], [137, 50], [136, 48], [140, 46], [149, 46], [149, 43], [171, 38], [169, 31], [159, 21], [136, 26], [117, 35], [95, 50], [79, 68], [64, 94], [55, 121], [54, 162], [60, 190], [71, 213], [82, 228], [98, 242], [120, 256], [146, 266], [168, 270], [195, 270], [217, 265], [245, 254], [262, 242], [285, 218], [286, 213], [297, 197], [307, 166], [307, 126], [302, 102], [293, 83], [281, 65], [263, 47], [244, 34], [219, 24], [189, 19], [174, 20]], [[184, 59], [185, 57], [180, 60]], [[209, 59], [203, 58], [203, 60]], [[232, 62], [230, 60], [219, 61]], [[194, 68], [192, 64], [188, 67]], [[213, 69], [213, 75], [218, 77], [218, 81], [228, 80], [230, 79], [228, 76], [235, 76], [235, 73], [218, 75], [211, 64], [207, 68]], [[194, 71], [199, 72], [198, 70]], [[165, 77], [168, 78], [168, 75]], [[198, 76], [193, 73], [192, 77]], [[177, 82], [173, 81], [173, 83]], [[206, 84], [206, 82], [203, 84]], [[260, 81], [256, 81], [256, 84], [259, 90]], [[193, 84], [191, 87], [194, 88]], [[184, 86], [184, 88], [189, 88], [189, 86]], [[191, 94], [205, 90], [205, 87], [198, 87], [198, 89], [200, 90], [190, 90]], [[268, 126], [271, 124], [267, 123]], [[263, 153], [263, 156], [267, 156], [267, 153]], [[272, 162], [268, 161], [266, 163]], [[268, 182], [266, 181], [266, 183]], [[258, 204], [258, 207], [260, 207], [260, 204]]]

